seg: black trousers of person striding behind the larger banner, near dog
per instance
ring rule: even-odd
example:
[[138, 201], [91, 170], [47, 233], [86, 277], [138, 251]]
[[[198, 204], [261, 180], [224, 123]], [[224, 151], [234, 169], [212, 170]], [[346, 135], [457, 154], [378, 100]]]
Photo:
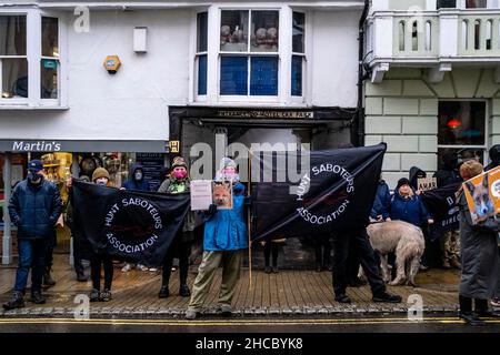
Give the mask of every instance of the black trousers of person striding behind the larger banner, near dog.
[[349, 277], [349, 245], [357, 250], [361, 267], [367, 275], [373, 295], [386, 292], [386, 283], [380, 276], [376, 253], [368, 240], [367, 229], [336, 233], [333, 236], [332, 284], [337, 296], [346, 294]]

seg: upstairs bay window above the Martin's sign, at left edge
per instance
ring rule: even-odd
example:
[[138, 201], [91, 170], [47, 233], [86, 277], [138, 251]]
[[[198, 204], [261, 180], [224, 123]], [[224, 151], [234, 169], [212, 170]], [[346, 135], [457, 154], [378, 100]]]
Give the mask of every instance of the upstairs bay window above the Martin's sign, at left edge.
[[61, 104], [61, 33], [56, 16], [0, 12], [0, 109]]

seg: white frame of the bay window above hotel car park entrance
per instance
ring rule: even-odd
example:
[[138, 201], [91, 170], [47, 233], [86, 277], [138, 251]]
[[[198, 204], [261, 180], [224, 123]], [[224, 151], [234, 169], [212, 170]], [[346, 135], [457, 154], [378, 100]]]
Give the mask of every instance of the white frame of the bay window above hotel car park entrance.
[[[220, 21], [223, 10], [246, 10], [249, 11], [249, 23], [251, 23], [251, 11], [278, 11], [279, 13], [279, 39], [278, 52], [223, 52], [220, 50]], [[197, 65], [197, 14], [208, 12], [208, 52], [207, 52], [207, 95], [198, 95], [198, 65]], [[306, 57], [304, 68], [302, 69], [302, 97], [291, 95], [291, 60], [292, 60], [292, 13], [293, 11], [306, 14]], [[243, 105], [252, 106], [264, 104], [268, 106], [281, 106], [289, 104], [292, 106], [306, 106], [307, 98], [310, 95], [310, 63], [309, 53], [312, 49], [312, 34], [309, 13], [306, 9], [294, 9], [291, 6], [283, 4], [212, 4], [208, 8], [198, 8], [192, 12], [191, 21], [191, 44], [190, 44], [190, 98], [191, 104], [211, 104], [211, 105]], [[251, 28], [249, 28], [249, 37]], [[260, 95], [221, 95], [220, 94], [220, 61], [221, 55], [271, 55], [278, 57], [278, 94], [271, 97]], [[249, 73], [250, 75], [250, 65]], [[248, 80], [250, 85], [250, 80]], [[250, 88], [248, 88], [250, 91]]]

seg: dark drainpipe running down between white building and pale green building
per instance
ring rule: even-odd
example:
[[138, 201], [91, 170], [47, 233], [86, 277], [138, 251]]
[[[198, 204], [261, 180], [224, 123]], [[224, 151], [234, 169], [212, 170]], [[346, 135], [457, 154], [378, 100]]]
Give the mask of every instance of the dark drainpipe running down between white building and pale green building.
[[368, 18], [370, 0], [364, 0], [364, 9], [359, 20], [359, 69], [358, 69], [358, 108], [352, 124], [351, 141], [356, 146], [364, 145], [364, 108], [363, 108], [363, 82], [364, 82], [364, 22]]

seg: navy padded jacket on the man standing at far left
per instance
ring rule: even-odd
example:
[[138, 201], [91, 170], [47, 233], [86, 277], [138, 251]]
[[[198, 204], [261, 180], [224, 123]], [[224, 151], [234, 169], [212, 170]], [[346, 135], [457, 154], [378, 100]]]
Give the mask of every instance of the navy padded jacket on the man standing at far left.
[[9, 214], [20, 240], [53, 239], [61, 211], [58, 187], [43, 178], [38, 185], [28, 180], [20, 182], [9, 202]]

